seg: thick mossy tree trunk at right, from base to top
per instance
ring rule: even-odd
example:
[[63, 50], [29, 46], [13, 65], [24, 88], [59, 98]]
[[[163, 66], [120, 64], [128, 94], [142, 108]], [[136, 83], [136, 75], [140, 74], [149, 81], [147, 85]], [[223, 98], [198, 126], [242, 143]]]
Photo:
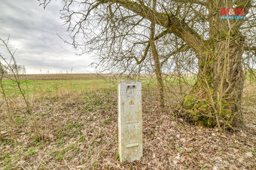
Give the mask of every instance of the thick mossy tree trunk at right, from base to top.
[[219, 130], [242, 124], [245, 37], [239, 27], [243, 21], [221, 19], [215, 10], [232, 5], [232, 1], [209, 1], [210, 38], [199, 54], [197, 82], [183, 103], [191, 121], [207, 127], [217, 125]]

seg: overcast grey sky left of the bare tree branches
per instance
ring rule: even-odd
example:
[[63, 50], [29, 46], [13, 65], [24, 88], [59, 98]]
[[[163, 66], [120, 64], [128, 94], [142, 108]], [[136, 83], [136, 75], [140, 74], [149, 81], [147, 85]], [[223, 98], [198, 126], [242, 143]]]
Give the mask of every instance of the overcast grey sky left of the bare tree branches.
[[10, 34], [17, 63], [26, 66], [26, 73], [94, 72], [90, 55], [75, 55], [75, 49], [57, 36], [68, 38], [59, 19], [61, 3], [51, 1], [44, 10], [36, 0], [0, 1], [0, 37], [6, 39]]

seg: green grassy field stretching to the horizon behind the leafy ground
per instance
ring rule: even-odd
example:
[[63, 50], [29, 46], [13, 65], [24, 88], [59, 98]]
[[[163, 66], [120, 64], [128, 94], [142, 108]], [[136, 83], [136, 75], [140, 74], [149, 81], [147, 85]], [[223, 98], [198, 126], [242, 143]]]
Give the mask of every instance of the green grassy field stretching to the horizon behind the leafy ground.
[[[72, 79], [67, 79], [71, 78]], [[11, 76], [9, 76], [11, 78]], [[103, 79], [104, 78], [104, 79]], [[134, 79], [135, 81], [138, 79]], [[59, 91], [91, 91], [91, 90], [117, 90], [117, 83], [120, 81], [131, 81], [120, 76], [110, 76], [109, 74], [49, 74], [23, 75], [20, 76], [20, 83], [27, 94], [57, 94]], [[142, 88], [156, 88], [157, 80], [148, 79], [145, 76], [139, 79], [142, 82]], [[16, 88], [16, 83], [11, 79], [3, 80], [8, 94], [20, 94]], [[185, 77], [181, 79], [184, 82], [193, 85], [194, 77]], [[166, 77], [165, 85], [178, 85], [178, 78]]]

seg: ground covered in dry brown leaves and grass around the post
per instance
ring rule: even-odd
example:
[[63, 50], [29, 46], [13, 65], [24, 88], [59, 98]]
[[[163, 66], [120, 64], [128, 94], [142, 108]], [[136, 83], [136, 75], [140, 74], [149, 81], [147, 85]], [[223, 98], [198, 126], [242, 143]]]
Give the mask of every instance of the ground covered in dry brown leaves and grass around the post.
[[32, 107], [42, 141], [32, 130], [31, 115], [17, 101], [19, 144], [11, 142], [2, 124], [0, 169], [256, 169], [254, 104], [245, 108], [244, 127], [220, 133], [187, 124], [170, 109], [157, 109], [154, 95], [143, 95], [141, 160], [120, 164], [117, 92], [97, 90], [35, 97]]

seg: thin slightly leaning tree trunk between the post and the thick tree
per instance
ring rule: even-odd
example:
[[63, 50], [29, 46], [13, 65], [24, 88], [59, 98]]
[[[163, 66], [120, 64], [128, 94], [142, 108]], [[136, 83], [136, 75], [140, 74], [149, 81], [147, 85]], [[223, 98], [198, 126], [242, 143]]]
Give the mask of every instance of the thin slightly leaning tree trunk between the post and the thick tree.
[[[156, 0], [153, 0], [153, 9], [156, 7]], [[149, 43], [151, 45], [151, 52], [154, 58], [155, 74], [157, 76], [157, 102], [160, 108], [164, 107], [164, 96], [163, 96], [163, 79], [161, 75], [160, 61], [158, 57], [157, 47], [154, 44], [154, 31], [155, 23], [151, 22], [151, 36]]]

